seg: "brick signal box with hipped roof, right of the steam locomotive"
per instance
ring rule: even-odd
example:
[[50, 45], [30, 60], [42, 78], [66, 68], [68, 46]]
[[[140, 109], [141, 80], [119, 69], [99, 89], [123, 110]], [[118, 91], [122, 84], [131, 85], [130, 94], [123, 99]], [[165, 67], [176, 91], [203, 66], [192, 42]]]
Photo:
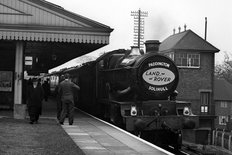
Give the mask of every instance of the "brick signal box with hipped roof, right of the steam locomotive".
[[214, 66], [219, 49], [191, 30], [169, 36], [159, 52], [172, 58], [179, 68], [178, 100], [189, 101], [199, 127], [214, 128]]

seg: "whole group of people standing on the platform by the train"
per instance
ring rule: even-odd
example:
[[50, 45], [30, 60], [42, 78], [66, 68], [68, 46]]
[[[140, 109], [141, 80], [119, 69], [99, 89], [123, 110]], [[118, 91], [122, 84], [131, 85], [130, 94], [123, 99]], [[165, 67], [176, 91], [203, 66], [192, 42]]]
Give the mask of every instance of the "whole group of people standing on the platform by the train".
[[[30, 117], [30, 124], [38, 123], [42, 114], [42, 101], [48, 100], [48, 80], [41, 85], [41, 79], [29, 79], [27, 84], [27, 108]], [[59, 85], [56, 87], [57, 96], [57, 119], [60, 124], [64, 123], [68, 116], [69, 125], [73, 124], [74, 118], [74, 92], [80, 87], [71, 82], [70, 75], [61, 76]]]

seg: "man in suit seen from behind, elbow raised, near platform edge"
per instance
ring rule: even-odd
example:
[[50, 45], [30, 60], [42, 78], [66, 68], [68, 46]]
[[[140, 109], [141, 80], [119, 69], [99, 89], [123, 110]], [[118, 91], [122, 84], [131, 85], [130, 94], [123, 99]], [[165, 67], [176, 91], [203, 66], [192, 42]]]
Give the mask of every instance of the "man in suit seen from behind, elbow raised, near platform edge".
[[62, 112], [60, 124], [63, 125], [66, 115], [68, 115], [69, 125], [73, 124], [74, 117], [74, 90], [80, 90], [80, 87], [69, 79], [69, 74], [64, 75], [65, 80], [60, 83], [58, 93], [61, 95]]

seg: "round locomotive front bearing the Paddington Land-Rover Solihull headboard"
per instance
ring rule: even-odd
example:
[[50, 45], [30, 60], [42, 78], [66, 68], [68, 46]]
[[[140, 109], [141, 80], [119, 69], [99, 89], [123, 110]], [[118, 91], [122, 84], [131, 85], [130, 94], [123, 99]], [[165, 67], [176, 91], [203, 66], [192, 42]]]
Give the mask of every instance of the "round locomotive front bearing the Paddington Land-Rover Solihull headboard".
[[167, 100], [176, 90], [179, 74], [170, 58], [149, 53], [137, 62], [136, 66], [137, 90], [143, 100]]

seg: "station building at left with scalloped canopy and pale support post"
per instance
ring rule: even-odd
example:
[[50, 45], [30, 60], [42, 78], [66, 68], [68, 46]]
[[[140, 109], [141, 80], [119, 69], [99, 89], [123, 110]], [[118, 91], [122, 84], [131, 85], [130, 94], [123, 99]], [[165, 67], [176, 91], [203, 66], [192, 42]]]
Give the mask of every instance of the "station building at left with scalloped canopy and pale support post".
[[112, 31], [45, 0], [0, 0], [0, 108], [23, 118], [25, 72], [47, 73], [97, 50]]

